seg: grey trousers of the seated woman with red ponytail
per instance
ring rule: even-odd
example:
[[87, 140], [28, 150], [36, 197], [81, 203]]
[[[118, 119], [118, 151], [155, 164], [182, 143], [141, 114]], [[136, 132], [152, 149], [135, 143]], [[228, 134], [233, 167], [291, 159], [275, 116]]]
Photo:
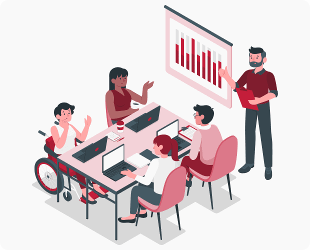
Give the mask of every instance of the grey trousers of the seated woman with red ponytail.
[[[131, 189], [130, 197], [130, 214], [135, 214], [138, 209], [138, 196], [153, 205], [159, 205], [161, 194], [154, 192], [154, 182], [151, 182], [148, 186], [139, 183]], [[141, 206], [142, 210], [146, 208]]]

